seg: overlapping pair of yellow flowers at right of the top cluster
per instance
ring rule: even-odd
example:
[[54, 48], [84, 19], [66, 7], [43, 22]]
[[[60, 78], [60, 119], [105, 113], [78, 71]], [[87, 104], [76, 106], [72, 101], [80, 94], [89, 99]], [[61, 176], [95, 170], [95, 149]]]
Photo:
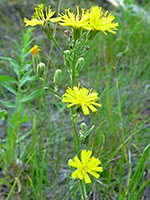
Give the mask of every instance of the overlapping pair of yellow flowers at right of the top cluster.
[[82, 28], [91, 31], [106, 31], [116, 33], [118, 23], [112, 21], [115, 17], [108, 14], [108, 11], [103, 13], [102, 8], [92, 6], [90, 10], [82, 9], [82, 15], [79, 15], [79, 8], [77, 6], [77, 14], [70, 12], [70, 9], [65, 10], [65, 14], [59, 14], [59, 24], [61, 26], [71, 26], [73, 29]]

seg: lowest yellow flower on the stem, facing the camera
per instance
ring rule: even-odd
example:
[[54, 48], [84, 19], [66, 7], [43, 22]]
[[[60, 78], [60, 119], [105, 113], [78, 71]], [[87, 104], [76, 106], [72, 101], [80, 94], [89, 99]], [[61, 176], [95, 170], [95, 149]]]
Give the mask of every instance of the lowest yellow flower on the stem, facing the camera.
[[[91, 174], [95, 178], [99, 178], [100, 175], [96, 172], [102, 172], [103, 168], [98, 165], [101, 164], [100, 160], [95, 157], [91, 157], [92, 151], [81, 151], [81, 161], [77, 156], [68, 161], [68, 165], [77, 168], [71, 175], [72, 178], [78, 177], [80, 180], [84, 178], [85, 183], [91, 183], [91, 179], [88, 174]], [[91, 157], [91, 158], [90, 158]]]

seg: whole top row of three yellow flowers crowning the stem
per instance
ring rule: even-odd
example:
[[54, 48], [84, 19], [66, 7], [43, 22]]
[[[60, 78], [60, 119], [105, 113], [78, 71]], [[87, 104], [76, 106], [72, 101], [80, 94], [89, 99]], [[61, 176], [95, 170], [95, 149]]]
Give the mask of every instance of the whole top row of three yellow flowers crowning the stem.
[[25, 26], [42, 26], [45, 20], [51, 20], [52, 22], [58, 22], [61, 26], [71, 26], [73, 29], [84, 29], [88, 31], [102, 31], [107, 35], [106, 31], [113, 34], [116, 33], [118, 23], [114, 23], [115, 17], [108, 11], [103, 13], [102, 8], [98, 6], [92, 6], [90, 10], [81, 9], [81, 15], [79, 13], [79, 7], [77, 6], [77, 13], [70, 12], [70, 9], [65, 10], [65, 14], [60, 14], [59, 17], [53, 18], [55, 11], [50, 9], [50, 6], [45, 8], [44, 15], [43, 4], [38, 5], [35, 8], [35, 13], [31, 20], [24, 19]]

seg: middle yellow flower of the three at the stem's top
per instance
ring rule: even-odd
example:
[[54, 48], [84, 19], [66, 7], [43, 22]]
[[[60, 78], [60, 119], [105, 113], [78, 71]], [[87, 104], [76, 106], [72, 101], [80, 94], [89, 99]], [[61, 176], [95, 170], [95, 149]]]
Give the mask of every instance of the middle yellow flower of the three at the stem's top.
[[71, 26], [74, 29], [82, 28], [83, 25], [88, 24], [88, 11], [85, 11], [85, 9], [82, 9], [82, 15], [79, 14], [79, 7], [77, 6], [77, 14], [70, 12], [70, 8], [65, 10], [65, 14], [59, 14], [60, 16], [60, 22], [59, 24], [61, 26]]

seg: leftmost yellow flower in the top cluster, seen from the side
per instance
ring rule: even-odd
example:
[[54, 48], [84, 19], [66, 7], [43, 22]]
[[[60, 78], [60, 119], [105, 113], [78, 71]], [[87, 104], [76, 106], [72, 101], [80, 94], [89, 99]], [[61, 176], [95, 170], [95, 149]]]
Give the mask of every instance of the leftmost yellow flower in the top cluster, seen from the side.
[[50, 6], [47, 8], [45, 7], [45, 12], [46, 12], [46, 17], [44, 16], [43, 13], [43, 9], [44, 6], [43, 4], [38, 5], [37, 8], [35, 8], [35, 13], [32, 16], [31, 20], [28, 20], [27, 18], [24, 18], [24, 23], [26, 23], [26, 26], [42, 26], [45, 20], [51, 20], [52, 22], [57, 22], [59, 20], [59, 18], [51, 18], [55, 11], [52, 12], [52, 10], [50, 9]]

